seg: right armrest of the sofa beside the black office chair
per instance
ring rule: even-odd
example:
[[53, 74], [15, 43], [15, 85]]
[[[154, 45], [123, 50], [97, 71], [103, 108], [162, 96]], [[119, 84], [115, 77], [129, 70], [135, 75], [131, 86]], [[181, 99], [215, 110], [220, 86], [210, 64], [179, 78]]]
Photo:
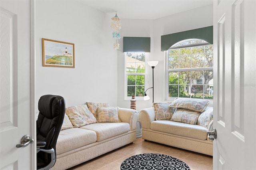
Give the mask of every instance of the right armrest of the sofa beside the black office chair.
[[130, 130], [136, 130], [138, 112], [134, 109], [119, 108], [119, 118], [122, 122], [130, 124]]

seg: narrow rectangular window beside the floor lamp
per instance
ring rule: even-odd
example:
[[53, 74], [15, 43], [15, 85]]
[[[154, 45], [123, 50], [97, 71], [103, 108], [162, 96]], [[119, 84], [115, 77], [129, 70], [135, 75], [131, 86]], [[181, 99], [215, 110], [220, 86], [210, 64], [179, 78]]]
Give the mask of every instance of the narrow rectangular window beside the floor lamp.
[[146, 67], [148, 53], [145, 52], [126, 52], [126, 89], [125, 99], [130, 100], [132, 95], [136, 99], [143, 99], [146, 84]]

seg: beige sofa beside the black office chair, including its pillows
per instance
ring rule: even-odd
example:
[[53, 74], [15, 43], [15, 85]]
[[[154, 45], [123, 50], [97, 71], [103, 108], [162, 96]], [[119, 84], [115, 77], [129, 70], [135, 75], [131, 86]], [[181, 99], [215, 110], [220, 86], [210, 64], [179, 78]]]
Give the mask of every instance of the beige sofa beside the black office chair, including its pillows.
[[[136, 110], [102, 103], [87, 105], [66, 108], [56, 144], [56, 163], [51, 170], [71, 168], [136, 140]], [[97, 107], [101, 109], [101, 121]], [[118, 117], [113, 116], [116, 113]]]

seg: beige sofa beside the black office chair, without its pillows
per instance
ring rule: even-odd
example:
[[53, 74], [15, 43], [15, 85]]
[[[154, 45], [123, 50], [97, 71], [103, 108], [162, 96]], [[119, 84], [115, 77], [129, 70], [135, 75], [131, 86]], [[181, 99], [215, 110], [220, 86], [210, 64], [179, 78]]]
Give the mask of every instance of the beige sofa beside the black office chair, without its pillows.
[[[67, 108], [66, 108], [67, 113]], [[65, 170], [136, 140], [138, 112], [119, 108], [118, 123], [90, 123], [74, 128], [65, 123], [56, 144], [56, 163], [51, 170]], [[70, 115], [65, 115], [72, 120]], [[64, 118], [64, 119], [65, 119]], [[74, 120], [72, 120], [74, 121]]]

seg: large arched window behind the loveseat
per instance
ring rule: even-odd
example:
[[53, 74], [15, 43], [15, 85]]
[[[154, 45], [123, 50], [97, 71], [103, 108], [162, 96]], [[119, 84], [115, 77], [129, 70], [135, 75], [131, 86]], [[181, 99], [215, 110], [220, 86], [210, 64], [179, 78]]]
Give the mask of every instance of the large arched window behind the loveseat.
[[167, 100], [213, 99], [213, 45], [204, 40], [178, 42], [166, 51]]

